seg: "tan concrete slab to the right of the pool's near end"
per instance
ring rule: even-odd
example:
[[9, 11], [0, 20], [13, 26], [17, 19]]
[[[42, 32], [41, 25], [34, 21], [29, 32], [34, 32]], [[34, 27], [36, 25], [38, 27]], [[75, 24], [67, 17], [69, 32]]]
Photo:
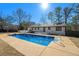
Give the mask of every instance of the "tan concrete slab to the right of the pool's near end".
[[50, 44], [49, 47], [79, 55], [79, 48], [68, 37], [60, 36], [60, 38], [61, 42]]

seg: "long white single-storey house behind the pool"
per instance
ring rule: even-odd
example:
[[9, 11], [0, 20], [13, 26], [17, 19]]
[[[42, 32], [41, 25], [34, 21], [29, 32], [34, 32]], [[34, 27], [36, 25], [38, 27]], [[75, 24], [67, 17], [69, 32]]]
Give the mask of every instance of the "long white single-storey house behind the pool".
[[28, 29], [34, 32], [65, 35], [65, 25], [33, 25]]

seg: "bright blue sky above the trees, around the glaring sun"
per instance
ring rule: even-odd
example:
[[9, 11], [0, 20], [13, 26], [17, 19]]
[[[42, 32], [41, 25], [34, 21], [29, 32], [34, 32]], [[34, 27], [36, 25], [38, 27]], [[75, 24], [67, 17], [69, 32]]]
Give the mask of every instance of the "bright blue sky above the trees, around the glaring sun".
[[47, 15], [49, 11], [53, 11], [56, 7], [71, 7], [71, 3], [51, 3], [47, 8], [42, 8], [41, 3], [0, 3], [0, 12], [3, 15], [12, 15], [13, 11], [22, 8], [26, 14], [31, 14], [31, 21], [39, 23], [41, 15]]

